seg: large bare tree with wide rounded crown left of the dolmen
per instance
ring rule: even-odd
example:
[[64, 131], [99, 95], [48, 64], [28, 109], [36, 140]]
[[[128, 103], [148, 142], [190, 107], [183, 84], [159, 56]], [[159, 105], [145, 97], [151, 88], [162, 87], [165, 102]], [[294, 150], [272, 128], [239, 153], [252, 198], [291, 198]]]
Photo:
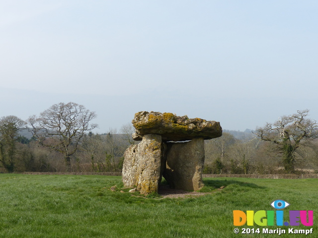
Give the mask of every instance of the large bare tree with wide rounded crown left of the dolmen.
[[31, 116], [28, 124], [40, 145], [64, 155], [66, 169], [71, 171], [71, 156], [77, 151], [79, 142], [86, 131], [97, 127], [97, 124], [89, 124], [94, 118], [95, 112], [70, 102], [54, 104], [39, 117]]

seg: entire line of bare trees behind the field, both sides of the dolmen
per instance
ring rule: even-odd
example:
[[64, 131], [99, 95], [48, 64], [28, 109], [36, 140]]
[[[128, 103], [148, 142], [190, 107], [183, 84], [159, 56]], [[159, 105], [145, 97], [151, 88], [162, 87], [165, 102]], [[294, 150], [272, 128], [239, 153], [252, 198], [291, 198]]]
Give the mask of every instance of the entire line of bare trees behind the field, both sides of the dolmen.
[[[317, 173], [318, 131], [309, 110], [283, 116], [236, 139], [223, 132], [205, 141], [206, 174]], [[27, 120], [0, 118], [0, 172], [121, 172], [124, 152], [136, 142], [131, 123], [97, 134], [84, 106], [59, 103]], [[31, 137], [21, 135], [27, 128]]]

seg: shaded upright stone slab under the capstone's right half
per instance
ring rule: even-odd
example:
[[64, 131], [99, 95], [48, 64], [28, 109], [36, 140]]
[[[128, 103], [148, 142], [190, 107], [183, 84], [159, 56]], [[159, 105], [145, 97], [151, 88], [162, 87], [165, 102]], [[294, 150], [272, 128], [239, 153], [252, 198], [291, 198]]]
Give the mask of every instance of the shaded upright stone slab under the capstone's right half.
[[172, 188], [200, 190], [204, 186], [204, 139], [194, 138], [189, 142], [167, 143], [167, 146], [163, 177]]

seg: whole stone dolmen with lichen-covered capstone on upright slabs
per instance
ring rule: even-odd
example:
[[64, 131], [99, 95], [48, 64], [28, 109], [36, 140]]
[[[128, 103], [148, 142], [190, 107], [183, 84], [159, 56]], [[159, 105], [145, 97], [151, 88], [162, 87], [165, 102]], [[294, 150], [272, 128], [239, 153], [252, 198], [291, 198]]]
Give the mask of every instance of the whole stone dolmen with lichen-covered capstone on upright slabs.
[[222, 135], [220, 122], [139, 112], [132, 123], [133, 139], [141, 142], [124, 153], [124, 186], [145, 195], [158, 192], [162, 177], [175, 189], [197, 191], [204, 186], [204, 140]]

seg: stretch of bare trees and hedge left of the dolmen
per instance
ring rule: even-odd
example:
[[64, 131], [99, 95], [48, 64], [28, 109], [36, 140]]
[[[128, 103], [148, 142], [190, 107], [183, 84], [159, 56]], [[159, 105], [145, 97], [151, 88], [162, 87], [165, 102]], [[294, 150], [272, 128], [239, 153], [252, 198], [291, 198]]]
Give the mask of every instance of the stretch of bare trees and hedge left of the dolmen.
[[[0, 171], [2, 172], [120, 172], [123, 153], [134, 143], [128, 138], [132, 126], [120, 134], [110, 129], [94, 134], [96, 118], [84, 106], [70, 102], [55, 104], [26, 121], [16, 116], [0, 119]], [[32, 134], [20, 135], [22, 129]]]

